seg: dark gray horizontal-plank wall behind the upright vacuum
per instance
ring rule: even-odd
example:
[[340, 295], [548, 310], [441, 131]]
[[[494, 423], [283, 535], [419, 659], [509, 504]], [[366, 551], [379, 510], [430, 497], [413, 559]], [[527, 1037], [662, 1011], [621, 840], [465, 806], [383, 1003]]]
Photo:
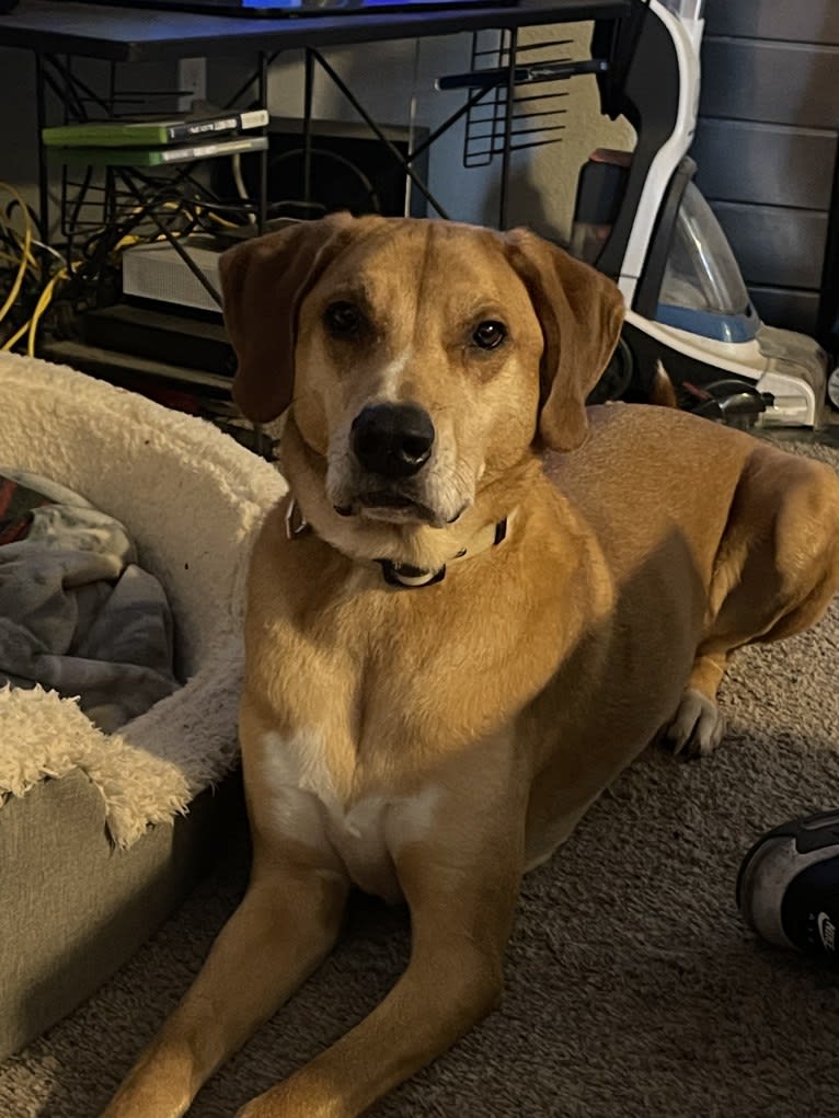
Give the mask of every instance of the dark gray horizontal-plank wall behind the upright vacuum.
[[837, 0], [707, 0], [697, 183], [773, 325], [816, 331], [837, 131]]

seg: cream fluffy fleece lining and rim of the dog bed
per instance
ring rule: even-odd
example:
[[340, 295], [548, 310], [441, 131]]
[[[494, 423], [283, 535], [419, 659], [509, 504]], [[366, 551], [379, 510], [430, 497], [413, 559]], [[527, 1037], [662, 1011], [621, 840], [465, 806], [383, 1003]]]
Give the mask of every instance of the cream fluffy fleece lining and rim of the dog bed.
[[166, 588], [188, 679], [107, 737], [70, 700], [3, 690], [0, 795], [22, 796], [77, 767], [102, 794], [114, 841], [130, 845], [235, 759], [249, 542], [285, 486], [210, 424], [59, 366], [2, 354], [0, 392], [0, 458], [126, 525]]

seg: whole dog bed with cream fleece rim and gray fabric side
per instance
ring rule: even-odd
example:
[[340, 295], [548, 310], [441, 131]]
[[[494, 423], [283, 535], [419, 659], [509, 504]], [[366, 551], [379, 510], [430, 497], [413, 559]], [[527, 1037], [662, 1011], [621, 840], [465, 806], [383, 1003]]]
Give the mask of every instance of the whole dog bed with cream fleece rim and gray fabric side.
[[122, 965], [241, 809], [247, 561], [285, 484], [210, 424], [65, 367], [0, 354], [0, 462], [125, 525], [185, 681], [112, 733], [73, 698], [0, 690], [1, 1058]]

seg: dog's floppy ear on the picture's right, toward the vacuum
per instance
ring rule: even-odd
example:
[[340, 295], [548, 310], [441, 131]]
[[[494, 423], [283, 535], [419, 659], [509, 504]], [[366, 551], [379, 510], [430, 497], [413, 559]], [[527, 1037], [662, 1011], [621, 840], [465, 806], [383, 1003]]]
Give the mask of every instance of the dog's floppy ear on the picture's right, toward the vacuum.
[[573, 451], [588, 428], [586, 397], [618, 344], [623, 296], [602, 273], [528, 229], [512, 229], [505, 241], [545, 338], [539, 434], [553, 449]]

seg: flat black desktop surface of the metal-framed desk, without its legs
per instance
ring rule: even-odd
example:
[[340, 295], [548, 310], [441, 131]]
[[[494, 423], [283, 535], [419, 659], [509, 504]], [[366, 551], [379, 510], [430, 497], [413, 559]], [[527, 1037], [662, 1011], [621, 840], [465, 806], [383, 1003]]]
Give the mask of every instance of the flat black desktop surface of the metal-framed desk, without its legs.
[[616, 19], [626, 16], [630, 7], [630, 0], [519, 0], [503, 8], [267, 19], [21, 0], [15, 11], [0, 16], [0, 47], [111, 61], [218, 58], [482, 28]]

